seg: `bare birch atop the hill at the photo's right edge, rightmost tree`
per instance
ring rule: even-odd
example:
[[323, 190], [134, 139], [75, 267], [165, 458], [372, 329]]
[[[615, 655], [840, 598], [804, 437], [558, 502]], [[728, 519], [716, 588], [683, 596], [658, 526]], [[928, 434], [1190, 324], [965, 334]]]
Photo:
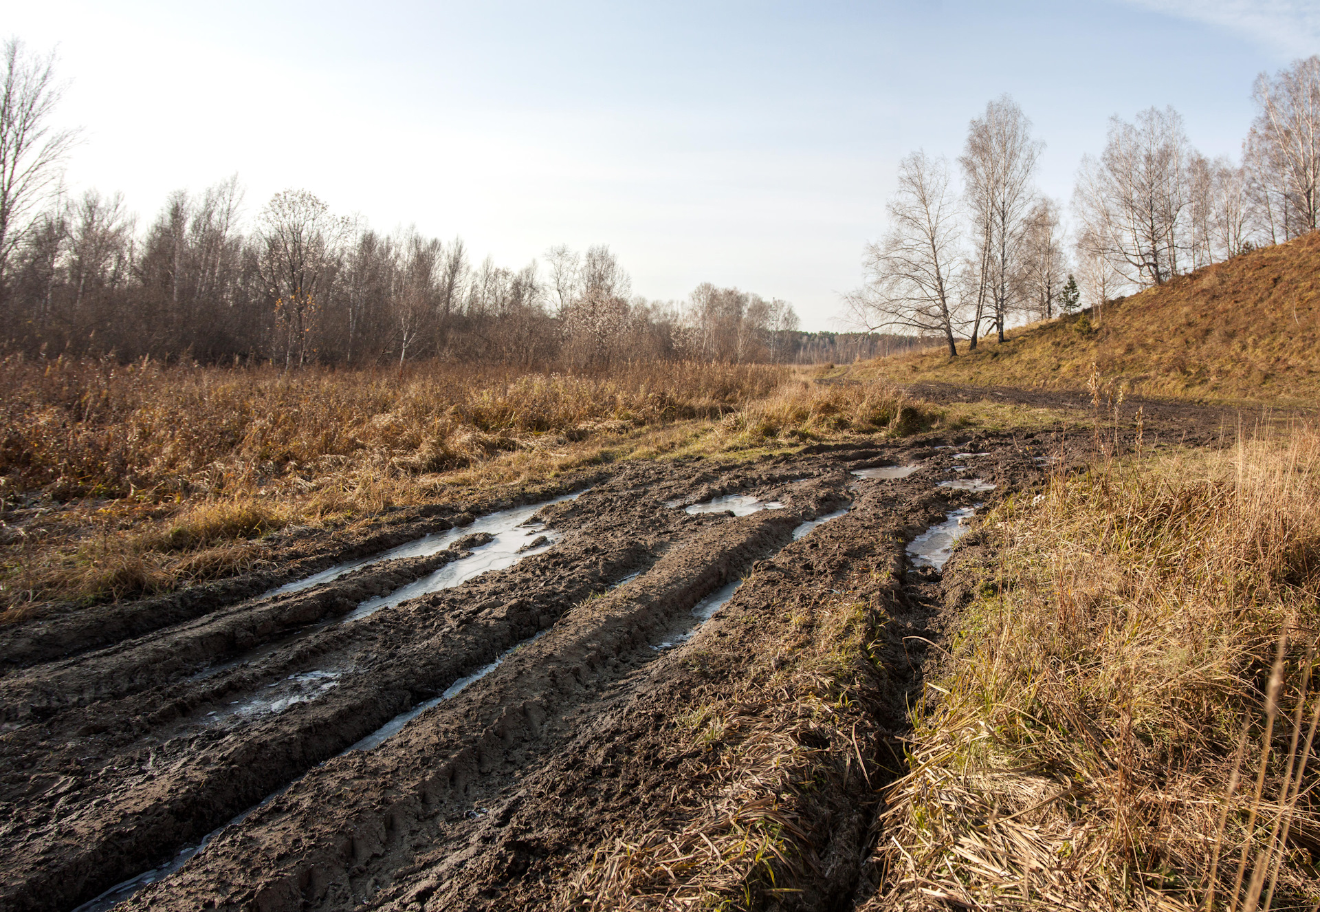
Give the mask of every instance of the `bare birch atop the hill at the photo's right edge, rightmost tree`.
[[1255, 123], [1247, 145], [1259, 168], [1267, 206], [1278, 206], [1276, 239], [1320, 227], [1320, 57], [1296, 61], [1251, 92]]

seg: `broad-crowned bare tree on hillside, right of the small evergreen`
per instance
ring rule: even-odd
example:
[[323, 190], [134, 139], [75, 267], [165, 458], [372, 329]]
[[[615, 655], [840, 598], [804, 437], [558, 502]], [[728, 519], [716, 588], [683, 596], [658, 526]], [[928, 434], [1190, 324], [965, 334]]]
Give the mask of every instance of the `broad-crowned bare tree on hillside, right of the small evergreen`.
[[1150, 108], [1129, 124], [1110, 120], [1100, 160], [1085, 156], [1073, 209], [1088, 251], [1138, 286], [1160, 285], [1181, 268], [1188, 242], [1187, 136], [1173, 108]]

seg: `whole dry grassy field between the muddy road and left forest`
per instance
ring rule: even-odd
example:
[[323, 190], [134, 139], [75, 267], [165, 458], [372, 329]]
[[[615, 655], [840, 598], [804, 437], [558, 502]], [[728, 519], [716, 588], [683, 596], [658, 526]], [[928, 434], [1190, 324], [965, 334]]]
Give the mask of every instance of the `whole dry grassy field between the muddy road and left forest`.
[[941, 421], [883, 381], [644, 364], [609, 376], [0, 363], [0, 623], [242, 573], [288, 527], [354, 531], [593, 465], [755, 458]]

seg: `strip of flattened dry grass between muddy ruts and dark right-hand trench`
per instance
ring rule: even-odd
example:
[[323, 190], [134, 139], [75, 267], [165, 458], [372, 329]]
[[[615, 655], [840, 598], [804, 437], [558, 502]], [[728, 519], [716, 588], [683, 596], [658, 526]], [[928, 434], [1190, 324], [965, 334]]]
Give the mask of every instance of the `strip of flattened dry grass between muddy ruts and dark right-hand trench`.
[[845, 594], [767, 631], [774, 655], [678, 721], [678, 813], [599, 849], [557, 908], [766, 908], [801, 894], [808, 868], [820, 878], [817, 850], [878, 775], [862, 758], [879, 740], [869, 709], [883, 677], [871, 656], [882, 618]]

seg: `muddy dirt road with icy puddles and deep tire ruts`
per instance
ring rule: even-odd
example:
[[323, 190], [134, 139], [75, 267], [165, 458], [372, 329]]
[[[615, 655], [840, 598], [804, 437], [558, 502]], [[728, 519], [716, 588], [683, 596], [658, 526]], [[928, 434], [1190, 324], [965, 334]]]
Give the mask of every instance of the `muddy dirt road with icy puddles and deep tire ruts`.
[[[1222, 424], [1187, 414], [1156, 430]], [[884, 606], [898, 733], [960, 516], [1059, 454], [1056, 432], [954, 430], [634, 462], [403, 516], [205, 598], [88, 610], [78, 636], [78, 615], [15, 624], [0, 909], [560, 901], [619, 826], [681, 804], [701, 760], [673, 759], [676, 719], [791, 649], [785, 606], [842, 587]], [[833, 861], [785, 907], [846, 905], [869, 813], [822, 830]]]

